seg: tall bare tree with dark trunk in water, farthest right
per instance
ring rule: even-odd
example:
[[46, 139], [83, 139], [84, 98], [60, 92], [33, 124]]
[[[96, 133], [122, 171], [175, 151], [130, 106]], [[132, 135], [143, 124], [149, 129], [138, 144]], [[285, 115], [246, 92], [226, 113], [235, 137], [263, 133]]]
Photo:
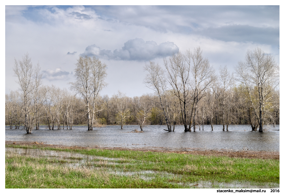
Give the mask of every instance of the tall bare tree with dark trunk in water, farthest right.
[[[274, 107], [273, 91], [279, 85], [278, 65], [274, 57], [260, 48], [246, 53], [245, 60], [236, 67], [237, 77], [245, 86], [255, 117], [259, 123], [259, 132], [263, 131], [264, 115]], [[254, 93], [258, 99], [254, 99]], [[257, 107], [254, 105], [257, 101]]]

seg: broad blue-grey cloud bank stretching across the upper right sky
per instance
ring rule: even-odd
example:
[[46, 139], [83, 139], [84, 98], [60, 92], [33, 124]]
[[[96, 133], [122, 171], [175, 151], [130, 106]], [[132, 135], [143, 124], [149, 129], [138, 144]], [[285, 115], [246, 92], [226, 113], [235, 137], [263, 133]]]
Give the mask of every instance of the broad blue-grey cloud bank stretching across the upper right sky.
[[201, 35], [226, 42], [279, 45], [279, 5], [122, 5], [93, 8], [103, 18], [114, 18], [122, 24], [146, 27], [156, 32]]

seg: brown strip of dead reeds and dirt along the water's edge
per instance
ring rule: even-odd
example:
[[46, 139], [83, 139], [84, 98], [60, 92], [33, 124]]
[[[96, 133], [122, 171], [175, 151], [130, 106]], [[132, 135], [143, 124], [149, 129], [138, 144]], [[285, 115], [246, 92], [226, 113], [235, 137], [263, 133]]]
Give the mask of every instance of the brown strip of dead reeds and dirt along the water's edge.
[[108, 150], [133, 150], [133, 151], [142, 151], [142, 152], [163, 152], [163, 153], [180, 153], [180, 154], [192, 154], [192, 155], [205, 155], [205, 156], [229, 156], [231, 158], [260, 158], [260, 159], [278, 159], [279, 152], [259, 152], [259, 151], [231, 151], [231, 150], [197, 150], [197, 151], [171, 151], [163, 147], [157, 148], [123, 148], [123, 147], [78, 147], [78, 146], [64, 146], [64, 145], [50, 145], [38, 142], [23, 142], [23, 141], [5, 141], [6, 144], [14, 145], [36, 145], [38, 147], [52, 147], [52, 148], [66, 148], [66, 149], [108, 149]]

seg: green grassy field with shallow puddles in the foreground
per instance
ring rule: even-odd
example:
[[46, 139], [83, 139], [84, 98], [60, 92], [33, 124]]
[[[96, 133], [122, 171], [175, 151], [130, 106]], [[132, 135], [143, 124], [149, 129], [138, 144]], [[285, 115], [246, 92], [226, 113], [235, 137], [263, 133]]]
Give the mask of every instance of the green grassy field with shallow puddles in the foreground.
[[6, 148], [5, 188], [279, 187], [279, 160], [274, 159], [32, 145]]

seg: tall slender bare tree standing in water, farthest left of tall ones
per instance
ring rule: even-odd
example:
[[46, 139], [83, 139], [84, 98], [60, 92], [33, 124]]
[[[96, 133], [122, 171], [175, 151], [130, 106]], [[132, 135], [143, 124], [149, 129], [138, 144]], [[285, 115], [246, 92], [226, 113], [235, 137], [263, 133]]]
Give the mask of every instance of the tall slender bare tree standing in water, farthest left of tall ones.
[[31, 58], [27, 53], [22, 60], [15, 59], [14, 76], [17, 77], [17, 83], [20, 86], [21, 95], [23, 95], [23, 107], [25, 122], [24, 128], [30, 134], [36, 123], [38, 89], [41, 85], [41, 74], [39, 64], [34, 68]]

